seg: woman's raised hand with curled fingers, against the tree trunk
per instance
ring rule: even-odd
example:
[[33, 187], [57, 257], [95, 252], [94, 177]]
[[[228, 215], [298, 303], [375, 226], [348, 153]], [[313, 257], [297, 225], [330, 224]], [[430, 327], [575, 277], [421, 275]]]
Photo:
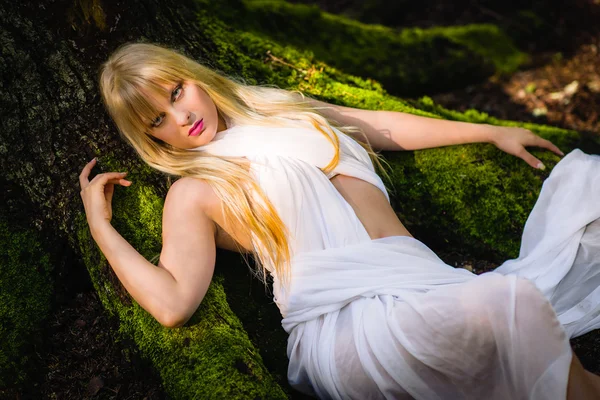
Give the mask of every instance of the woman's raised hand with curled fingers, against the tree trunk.
[[129, 186], [131, 182], [123, 179], [127, 172], [107, 172], [98, 174], [89, 181], [88, 177], [92, 168], [96, 165], [96, 159], [86, 164], [79, 175], [81, 185], [81, 198], [85, 208], [85, 215], [90, 229], [103, 222], [110, 223], [112, 219], [112, 196], [115, 184]]

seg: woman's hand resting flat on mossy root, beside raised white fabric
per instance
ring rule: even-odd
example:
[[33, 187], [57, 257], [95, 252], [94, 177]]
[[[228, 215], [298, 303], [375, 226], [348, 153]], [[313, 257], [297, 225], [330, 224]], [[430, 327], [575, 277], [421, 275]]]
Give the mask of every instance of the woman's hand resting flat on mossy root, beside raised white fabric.
[[515, 157], [522, 158], [533, 168], [541, 170], [546, 169], [544, 164], [529, 153], [525, 147], [535, 146], [548, 149], [559, 156], [564, 156], [551, 141], [542, 139], [535, 133], [525, 128], [510, 127], [510, 126], [493, 126], [490, 125], [491, 136], [490, 142], [496, 145], [500, 150], [512, 154]]

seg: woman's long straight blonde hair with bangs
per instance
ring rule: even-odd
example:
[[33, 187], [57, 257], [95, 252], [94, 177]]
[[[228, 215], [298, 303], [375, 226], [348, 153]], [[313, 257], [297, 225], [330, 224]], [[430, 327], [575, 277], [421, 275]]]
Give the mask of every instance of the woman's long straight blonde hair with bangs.
[[[225, 77], [196, 61], [154, 44], [130, 43], [117, 49], [102, 65], [100, 90], [104, 104], [120, 133], [151, 167], [169, 175], [194, 177], [207, 182], [222, 200], [228, 221], [237, 221], [242, 234], [252, 239], [259, 261], [258, 277], [275, 271], [285, 285], [289, 279], [290, 248], [283, 221], [250, 174], [241, 158], [216, 157], [207, 152], [175, 148], [146, 134], [148, 121], [159, 111], [148, 96], [168, 96], [165, 87], [190, 81], [203, 89], [218, 113], [234, 125], [282, 126], [293, 120], [310, 122], [335, 148], [323, 169], [333, 170], [340, 158], [339, 138], [333, 121], [317, 112], [300, 92], [246, 85]], [[325, 127], [325, 129], [323, 129]], [[337, 127], [350, 134], [357, 127]], [[374, 162], [377, 155], [361, 143]]]

